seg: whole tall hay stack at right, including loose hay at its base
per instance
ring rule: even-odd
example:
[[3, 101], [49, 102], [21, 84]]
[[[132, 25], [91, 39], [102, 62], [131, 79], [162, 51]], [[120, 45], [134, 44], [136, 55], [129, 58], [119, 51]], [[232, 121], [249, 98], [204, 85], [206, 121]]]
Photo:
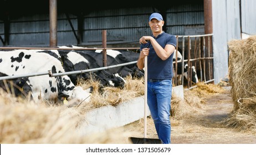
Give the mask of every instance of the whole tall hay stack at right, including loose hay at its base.
[[228, 43], [229, 81], [234, 108], [228, 126], [256, 132], [256, 35]]

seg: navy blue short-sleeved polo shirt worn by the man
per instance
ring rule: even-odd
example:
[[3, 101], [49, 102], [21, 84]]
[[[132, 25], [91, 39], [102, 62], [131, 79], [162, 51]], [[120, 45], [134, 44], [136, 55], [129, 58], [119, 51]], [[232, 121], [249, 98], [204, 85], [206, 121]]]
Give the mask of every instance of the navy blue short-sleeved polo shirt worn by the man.
[[[153, 37], [153, 35], [151, 35]], [[155, 37], [153, 37], [155, 38]], [[157, 43], [162, 46], [162, 48], [165, 48], [165, 45], [171, 44], [175, 46], [177, 39], [175, 35], [171, 35], [168, 33], [161, 33], [155, 38]], [[172, 58], [173, 53], [171, 56], [169, 56], [168, 59], [162, 60], [160, 59], [155, 49], [153, 49], [152, 44], [141, 44], [140, 49], [146, 48], [150, 49], [149, 56], [147, 56], [147, 79], [155, 79], [155, 80], [171, 80], [173, 73], [172, 73]]]

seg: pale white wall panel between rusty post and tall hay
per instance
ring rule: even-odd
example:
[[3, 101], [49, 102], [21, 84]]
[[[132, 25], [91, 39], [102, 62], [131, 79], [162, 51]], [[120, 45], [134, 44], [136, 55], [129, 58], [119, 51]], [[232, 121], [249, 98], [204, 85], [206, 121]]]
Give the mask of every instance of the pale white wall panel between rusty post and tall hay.
[[213, 0], [214, 83], [228, 75], [228, 42], [240, 39], [239, 0]]

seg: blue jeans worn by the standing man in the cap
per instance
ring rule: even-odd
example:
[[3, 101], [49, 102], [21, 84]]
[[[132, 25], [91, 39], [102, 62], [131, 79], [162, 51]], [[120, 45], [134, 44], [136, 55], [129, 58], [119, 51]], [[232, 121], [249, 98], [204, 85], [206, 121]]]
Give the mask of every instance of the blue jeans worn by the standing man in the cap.
[[155, 123], [158, 138], [162, 143], [171, 143], [172, 80], [147, 82], [147, 105]]

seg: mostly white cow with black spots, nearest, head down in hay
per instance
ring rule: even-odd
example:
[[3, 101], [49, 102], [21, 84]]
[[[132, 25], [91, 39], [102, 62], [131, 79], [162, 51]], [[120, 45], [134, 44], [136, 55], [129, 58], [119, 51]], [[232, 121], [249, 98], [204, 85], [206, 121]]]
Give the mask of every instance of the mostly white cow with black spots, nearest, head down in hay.
[[[23, 75], [40, 73], [45, 71], [63, 73], [62, 63], [47, 53], [38, 53], [29, 50], [0, 51], [0, 72], [7, 75]], [[32, 93], [35, 102], [42, 100], [58, 101], [59, 97], [65, 97], [71, 104], [81, 101], [89, 102], [91, 88], [84, 90], [75, 86], [69, 76], [49, 75], [29, 77], [33, 85]]]

